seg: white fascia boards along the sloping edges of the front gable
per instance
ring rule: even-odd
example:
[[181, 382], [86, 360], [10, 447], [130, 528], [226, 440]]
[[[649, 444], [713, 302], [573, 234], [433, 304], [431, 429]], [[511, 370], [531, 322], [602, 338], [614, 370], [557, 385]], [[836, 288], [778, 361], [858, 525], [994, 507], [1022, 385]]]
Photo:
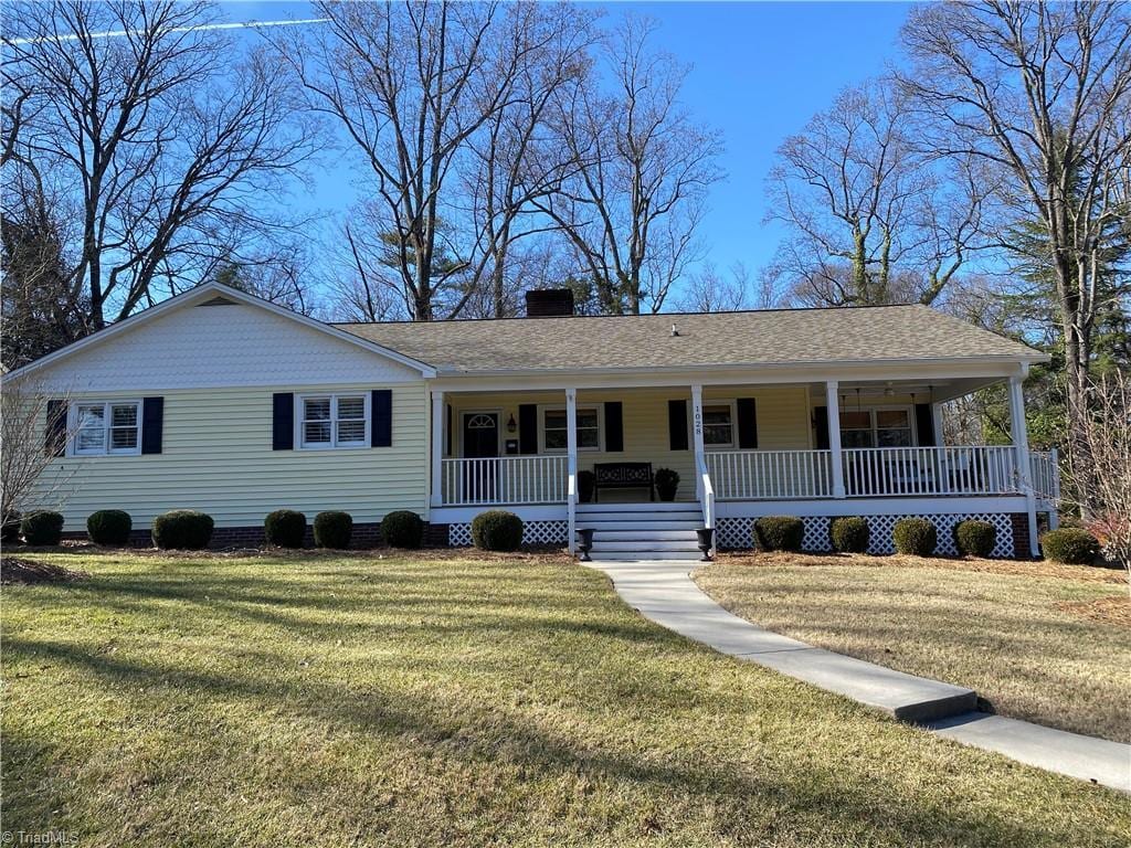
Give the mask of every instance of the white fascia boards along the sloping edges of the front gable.
[[265, 301], [261, 297], [256, 297], [254, 295], [248, 294], [247, 292], [241, 292], [236, 288], [231, 288], [222, 283], [205, 283], [202, 285], [190, 288], [188, 292], [182, 292], [179, 295], [170, 297], [169, 300], [162, 301], [161, 303], [150, 306], [149, 309], [143, 310], [129, 318], [123, 318], [121, 321], [115, 321], [105, 329], [93, 332], [89, 336], [80, 338], [78, 341], [72, 341], [66, 347], [60, 347], [58, 351], [43, 356], [35, 362], [28, 363], [23, 367], [18, 367], [15, 371], [10, 371], [5, 374], [5, 380], [21, 379], [27, 374], [38, 371], [48, 365], [58, 363], [60, 360], [66, 360], [81, 351], [94, 345], [100, 345], [106, 339], [114, 338], [123, 332], [128, 332], [135, 327], [140, 326], [147, 321], [152, 321], [161, 315], [164, 315], [174, 310], [181, 309], [183, 306], [191, 306], [193, 303], [205, 300], [208, 296], [222, 296], [236, 303], [242, 303], [249, 306], [257, 306], [268, 312], [273, 312], [283, 318], [287, 318], [292, 321], [297, 321], [301, 325], [310, 327], [312, 329], [325, 332], [329, 336], [334, 336], [342, 341], [346, 341], [351, 345], [356, 345], [357, 347], [364, 348], [370, 353], [379, 354], [395, 362], [399, 362], [402, 365], [406, 365], [415, 371], [421, 372], [421, 377], [424, 379], [431, 379], [437, 375], [434, 367], [425, 362], [420, 362], [411, 356], [405, 356], [396, 351], [382, 347], [373, 341], [363, 339], [361, 336], [355, 336], [352, 332], [346, 332], [345, 330], [339, 330], [337, 327], [331, 327], [328, 323], [323, 323], [314, 318], [309, 318], [308, 315], [299, 314], [292, 310], [280, 306], [277, 303], [271, 303], [270, 301]]

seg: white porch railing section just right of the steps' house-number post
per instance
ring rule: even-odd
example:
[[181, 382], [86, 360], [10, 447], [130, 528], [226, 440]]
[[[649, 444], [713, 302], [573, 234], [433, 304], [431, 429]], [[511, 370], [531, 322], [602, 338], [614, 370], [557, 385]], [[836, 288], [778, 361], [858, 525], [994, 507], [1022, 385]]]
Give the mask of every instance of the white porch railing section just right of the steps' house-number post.
[[714, 451], [707, 469], [720, 501], [832, 496], [827, 450]]

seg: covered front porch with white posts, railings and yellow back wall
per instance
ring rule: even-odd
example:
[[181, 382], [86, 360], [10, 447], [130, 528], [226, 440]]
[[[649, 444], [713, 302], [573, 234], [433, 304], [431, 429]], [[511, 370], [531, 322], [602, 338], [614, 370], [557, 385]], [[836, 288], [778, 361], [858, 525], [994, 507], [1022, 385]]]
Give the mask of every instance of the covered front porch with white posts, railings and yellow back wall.
[[[942, 405], [1003, 379], [1012, 443], [946, 444]], [[1036, 513], [1055, 521], [1056, 459], [1028, 449], [1020, 374], [649, 382], [433, 389], [430, 520], [507, 508], [572, 547], [579, 505], [656, 502], [663, 468], [706, 528], [770, 512], [1024, 514], [1035, 553]], [[618, 473], [623, 485], [601, 484]]]

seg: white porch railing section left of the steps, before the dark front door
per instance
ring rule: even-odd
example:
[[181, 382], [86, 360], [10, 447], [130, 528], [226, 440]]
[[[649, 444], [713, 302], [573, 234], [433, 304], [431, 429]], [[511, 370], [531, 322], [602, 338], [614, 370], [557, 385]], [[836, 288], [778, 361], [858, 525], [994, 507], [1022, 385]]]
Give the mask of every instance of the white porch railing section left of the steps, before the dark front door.
[[506, 503], [566, 503], [564, 456], [444, 459], [446, 507]]

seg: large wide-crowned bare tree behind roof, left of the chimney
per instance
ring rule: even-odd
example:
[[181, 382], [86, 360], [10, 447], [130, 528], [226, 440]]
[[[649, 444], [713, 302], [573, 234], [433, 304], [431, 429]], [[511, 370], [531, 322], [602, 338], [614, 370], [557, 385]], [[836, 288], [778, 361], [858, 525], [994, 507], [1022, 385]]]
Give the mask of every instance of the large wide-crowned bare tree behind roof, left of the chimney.
[[360, 282], [391, 271], [414, 320], [457, 315], [484, 274], [503, 272], [517, 216], [556, 179], [535, 155], [536, 130], [579, 67], [585, 16], [493, 2], [322, 2], [318, 12], [328, 23], [312, 40], [277, 46], [308, 106], [345, 131], [371, 173], [364, 213], [375, 226], [349, 239], [368, 266]]

